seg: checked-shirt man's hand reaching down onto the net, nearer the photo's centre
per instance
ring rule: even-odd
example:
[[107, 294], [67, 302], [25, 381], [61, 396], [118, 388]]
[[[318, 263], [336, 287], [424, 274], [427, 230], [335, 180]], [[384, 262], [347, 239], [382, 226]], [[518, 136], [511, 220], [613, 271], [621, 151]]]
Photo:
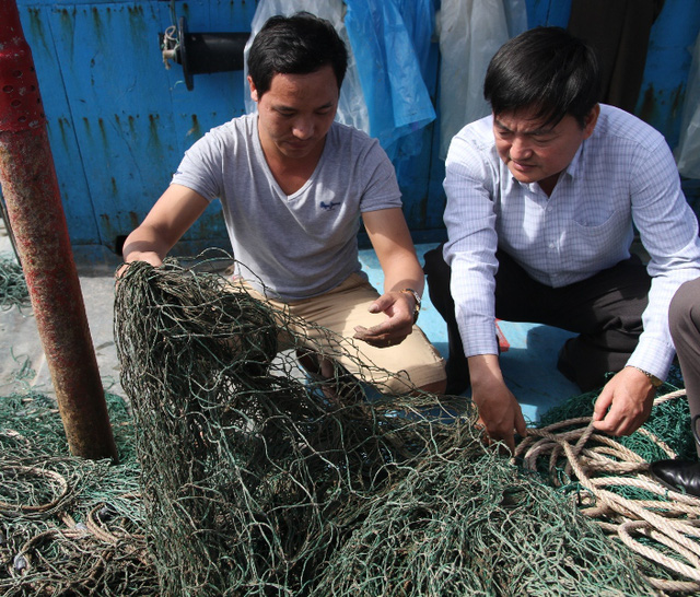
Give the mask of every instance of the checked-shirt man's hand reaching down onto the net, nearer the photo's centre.
[[479, 420], [489, 438], [503, 442], [515, 452], [515, 432], [527, 435], [523, 411], [508, 389], [495, 354], [469, 356], [471, 400], [479, 410]]

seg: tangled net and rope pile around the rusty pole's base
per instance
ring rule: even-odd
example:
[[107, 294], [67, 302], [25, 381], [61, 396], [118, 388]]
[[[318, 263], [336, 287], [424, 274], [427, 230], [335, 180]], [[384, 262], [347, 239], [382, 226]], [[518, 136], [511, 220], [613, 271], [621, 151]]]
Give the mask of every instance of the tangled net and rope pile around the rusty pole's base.
[[55, 399], [0, 400], [0, 595], [156, 596], [133, 426], [107, 394], [122, 464], [70, 456]]

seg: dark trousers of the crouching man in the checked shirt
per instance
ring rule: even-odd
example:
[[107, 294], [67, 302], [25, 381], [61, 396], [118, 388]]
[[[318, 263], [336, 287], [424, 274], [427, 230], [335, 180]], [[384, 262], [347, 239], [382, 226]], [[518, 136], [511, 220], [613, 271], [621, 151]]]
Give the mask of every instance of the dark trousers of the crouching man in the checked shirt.
[[[562, 288], [533, 280], [508, 254], [497, 253], [495, 317], [505, 321], [545, 324], [579, 333], [559, 353], [558, 368], [582, 391], [605, 385], [606, 373], [627, 363], [642, 333], [651, 278], [639, 257]], [[466, 376], [468, 366], [450, 293], [451, 270], [442, 245], [425, 254], [430, 300], [447, 324], [451, 375]], [[454, 379], [452, 379], [454, 382]]]

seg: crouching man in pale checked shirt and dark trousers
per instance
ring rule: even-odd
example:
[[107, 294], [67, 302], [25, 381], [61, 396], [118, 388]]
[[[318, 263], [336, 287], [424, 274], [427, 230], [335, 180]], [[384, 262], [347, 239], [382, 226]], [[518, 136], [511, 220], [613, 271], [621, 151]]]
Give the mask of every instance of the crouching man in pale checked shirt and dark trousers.
[[[674, 358], [668, 303], [700, 277], [698, 222], [668, 145], [600, 105], [599, 86], [582, 40], [527, 31], [489, 66], [492, 115], [447, 154], [448, 241], [425, 272], [450, 332], [448, 389], [470, 383], [490, 438], [511, 448], [526, 430], [499, 366], [497, 317], [579, 333], [558, 368], [584, 391], [605, 386], [595, 426], [625, 435], [645, 421]], [[630, 253], [634, 229], [646, 266]]]

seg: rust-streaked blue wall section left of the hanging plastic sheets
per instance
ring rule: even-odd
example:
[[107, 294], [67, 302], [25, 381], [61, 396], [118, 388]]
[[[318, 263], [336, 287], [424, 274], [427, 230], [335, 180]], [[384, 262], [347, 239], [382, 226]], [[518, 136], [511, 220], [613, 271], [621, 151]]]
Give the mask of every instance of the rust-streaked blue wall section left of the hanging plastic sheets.
[[[197, 77], [187, 91], [182, 68], [166, 70], [161, 57], [168, 2], [18, 4], [73, 247], [113, 250], [166, 188], [185, 150], [244, 113], [242, 73]], [[177, 15], [191, 32], [245, 32], [255, 8], [245, 0], [189, 1], [177, 3]], [[220, 211], [212, 203], [188, 237], [202, 246], [225, 242]]]

